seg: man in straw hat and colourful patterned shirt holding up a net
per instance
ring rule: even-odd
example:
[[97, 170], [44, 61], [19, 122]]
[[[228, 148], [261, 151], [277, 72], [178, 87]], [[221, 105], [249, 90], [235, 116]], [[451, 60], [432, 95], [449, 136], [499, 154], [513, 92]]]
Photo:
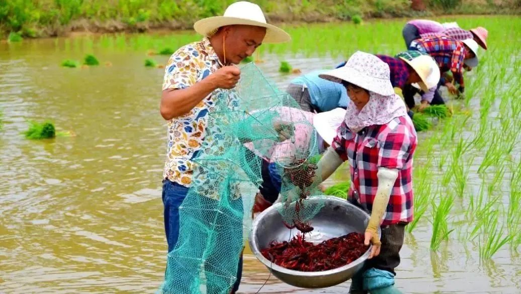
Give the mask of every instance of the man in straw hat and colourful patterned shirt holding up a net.
[[[160, 103], [160, 113], [168, 122], [163, 204], [169, 252], [176, 246], [179, 236], [179, 207], [192, 184], [192, 159], [203, 152], [201, 145], [205, 140], [208, 113], [214, 110], [216, 102], [216, 95], [213, 94], [237, 84], [241, 73], [234, 64], [252, 56], [258, 46], [291, 39], [283, 30], [266, 23], [258, 5], [244, 1], [231, 4], [223, 16], [197, 21], [194, 29], [204, 37], [199, 42], [179, 48], [170, 57]], [[237, 238], [242, 240], [242, 236]], [[236, 253], [240, 255], [240, 252]], [[207, 257], [207, 260], [211, 258]], [[175, 271], [167, 270], [171, 273]], [[235, 284], [229, 285], [228, 291], [237, 291], [241, 271], [242, 258], [234, 278]], [[188, 286], [170, 285], [169, 290], [176, 294], [185, 293]], [[211, 287], [208, 282], [208, 293], [214, 291]]]

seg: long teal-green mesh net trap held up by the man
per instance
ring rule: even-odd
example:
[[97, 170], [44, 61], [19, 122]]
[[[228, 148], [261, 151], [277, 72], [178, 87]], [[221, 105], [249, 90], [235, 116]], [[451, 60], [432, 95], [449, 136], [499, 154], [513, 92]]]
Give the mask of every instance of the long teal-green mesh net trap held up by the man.
[[262, 184], [263, 160], [282, 179], [281, 225], [302, 228], [321, 208], [304, 200], [320, 193], [318, 180], [307, 180], [319, 174], [314, 164], [321, 142], [312, 115], [254, 63], [243, 66], [235, 89], [213, 95], [215, 108], [193, 157], [193, 181], [179, 208], [179, 239], [167, 255], [162, 293], [230, 293]]

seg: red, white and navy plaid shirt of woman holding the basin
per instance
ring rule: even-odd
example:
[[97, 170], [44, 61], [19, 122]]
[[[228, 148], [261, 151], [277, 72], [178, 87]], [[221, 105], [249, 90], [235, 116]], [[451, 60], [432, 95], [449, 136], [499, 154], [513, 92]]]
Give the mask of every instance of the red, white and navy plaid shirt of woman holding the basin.
[[349, 200], [367, 211], [373, 209], [378, 168], [398, 169], [382, 226], [413, 220], [412, 167], [416, 144], [413, 122], [408, 116], [400, 116], [384, 125], [366, 127], [358, 133], [351, 132], [343, 123], [331, 145], [340, 158], [349, 159]]

